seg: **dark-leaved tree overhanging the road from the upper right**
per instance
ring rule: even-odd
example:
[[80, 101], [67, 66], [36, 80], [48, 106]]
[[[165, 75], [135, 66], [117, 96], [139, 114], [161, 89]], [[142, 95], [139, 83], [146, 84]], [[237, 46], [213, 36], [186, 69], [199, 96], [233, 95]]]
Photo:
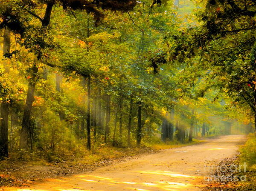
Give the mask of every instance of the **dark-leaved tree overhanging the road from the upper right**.
[[[205, 77], [233, 99], [246, 104], [256, 120], [256, 4], [252, 0], [209, 0], [195, 13], [198, 23], [170, 35], [172, 62], [200, 68]], [[199, 75], [199, 76], [200, 76]], [[218, 97], [218, 96], [216, 96]], [[256, 124], [256, 123], [255, 123]]]

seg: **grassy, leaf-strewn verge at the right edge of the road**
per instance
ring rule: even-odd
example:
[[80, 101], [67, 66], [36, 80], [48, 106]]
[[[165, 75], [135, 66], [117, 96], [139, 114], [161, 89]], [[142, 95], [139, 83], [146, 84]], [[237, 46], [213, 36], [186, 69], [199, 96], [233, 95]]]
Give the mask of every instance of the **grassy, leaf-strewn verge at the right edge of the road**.
[[[246, 171], [244, 171], [244, 162]], [[242, 167], [241, 170], [239, 165]], [[235, 157], [219, 163], [221, 171], [215, 171], [218, 177], [239, 177], [233, 181], [217, 181], [207, 186], [206, 191], [255, 191], [256, 190], [256, 137], [250, 134], [246, 143], [240, 146]], [[232, 167], [233, 166], [233, 167]], [[236, 168], [235, 168], [236, 167]], [[244, 180], [245, 177], [245, 180]], [[242, 178], [242, 179], [241, 179]]]

